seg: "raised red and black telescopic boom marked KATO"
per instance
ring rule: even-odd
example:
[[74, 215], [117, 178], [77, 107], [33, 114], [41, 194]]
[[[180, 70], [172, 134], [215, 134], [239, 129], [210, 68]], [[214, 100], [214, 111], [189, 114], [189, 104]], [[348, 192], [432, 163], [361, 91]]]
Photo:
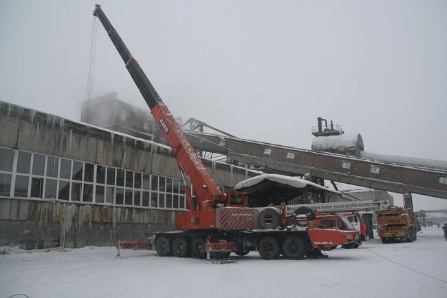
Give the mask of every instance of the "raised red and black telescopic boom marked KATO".
[[[122, 61], [124, 61], [127, 71], [140, 90], [149, 109], [151, 109], [151, 113], [155, 118], [157, 125], [162, 130], [164, 138], [166, 138], [166, 141], [175, 154], [183, 178], [183, 171], [190, 178], [193, 189], [197, 194], [197, 209], [214, 209], [218, 202], [225, 202], [226, 196], [221, 193], [219, 187], [217, 187], [209, 173], [206, 171], [204, 164], [201, 162], [195, 149], [190, 145], [190, 142], [183, 134], [182, 129], [175, 121], [171, 111], [169, 111], [168, 107], [163, 103], [162, 98], [157, 94], [151, 81], [149, 81], [149, 78], [144, 74], [138, 62], [133, 58], [131, 52], [122, 41], [118, 32], [113, 28], [109, 19], [107, 19], [100, 5], [96, 4], [93, 14], [98, 17], [107, 34], [109, 34], [113, 45], [115, 45]], [[189, 209], [194, 210], [193, 200], [190, 197], [190, 191], [188, 190], [185, 180], [184, 184], [186, 187], [185, 193]]]

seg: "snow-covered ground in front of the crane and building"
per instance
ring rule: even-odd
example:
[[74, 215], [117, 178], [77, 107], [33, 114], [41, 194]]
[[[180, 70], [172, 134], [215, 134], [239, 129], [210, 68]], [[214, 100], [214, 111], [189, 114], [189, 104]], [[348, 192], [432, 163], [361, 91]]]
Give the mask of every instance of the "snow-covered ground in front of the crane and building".
[[0, 255], [0, 298], [18, 293], [31, 298], [447, 297], [442, 229], [423, 228], [417, 237], [402, 244], [377, 238], [357, 249], [326, 252], [328, 259], [265, 261], [250, 253], [235, 256], [234, 264], [159, 257], [153, 251], [122, 251], [116, 257], [111, 247], [12, 250]]

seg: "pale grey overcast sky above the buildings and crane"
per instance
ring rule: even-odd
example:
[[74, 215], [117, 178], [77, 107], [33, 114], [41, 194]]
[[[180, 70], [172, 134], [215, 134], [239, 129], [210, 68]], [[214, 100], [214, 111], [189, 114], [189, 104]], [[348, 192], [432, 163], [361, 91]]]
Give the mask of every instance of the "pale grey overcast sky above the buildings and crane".
[[[445, 0], [100, 4], [176, 117], [310, 149], [322, 116], [367, 151], [447, 160]], [[0, 1], [0, 100], [79, 120], [93, 9]], [[93, 93], [114, 91], [146, 108], [99, 24]]]

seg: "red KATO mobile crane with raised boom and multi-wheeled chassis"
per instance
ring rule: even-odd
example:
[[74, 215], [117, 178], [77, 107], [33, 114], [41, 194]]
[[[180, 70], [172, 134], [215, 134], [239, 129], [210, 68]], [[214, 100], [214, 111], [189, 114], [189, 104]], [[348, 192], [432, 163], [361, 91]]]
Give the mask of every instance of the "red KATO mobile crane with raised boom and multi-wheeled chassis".
[[[207, 251], [220, 255], [229, 255], [232, 251], [237, 255], [246, 255], [257, 250], [263, 259], [276, 259], [281, 253], [290, 259], [301, 259], [305, 255], [318, 254], [321, 249], [345, 244], [358, 237], [358, 233], [349, 228], [323, 228], [312, 209], [300, 211], [298, 208], [293, 215], [286, 215], [285, 203], [280, 208], [249, 208], [246, 193], [221, 193], [100, 5], [96, 4], [93, 14], [104, 26], [151, 109], [157, 125], [172, 148], [184, 182], [189, 211], [177, 215], [175, 226], [179, 231], [155, 235], [155, 250], [158, 255], [204, 258]], [[196, 202], [186, 184], [185, 175], [196, 193]]]

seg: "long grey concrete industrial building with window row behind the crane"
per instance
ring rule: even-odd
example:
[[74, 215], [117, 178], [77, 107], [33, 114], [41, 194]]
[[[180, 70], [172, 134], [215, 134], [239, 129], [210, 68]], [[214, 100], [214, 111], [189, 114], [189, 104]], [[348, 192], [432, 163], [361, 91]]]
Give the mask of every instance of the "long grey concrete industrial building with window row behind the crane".
[[[0, 246], [113, 245], [174, 228], [186, 210], [171, 149], [0, 102]], [[204, 160], [222, 190], [257, 175]]]

